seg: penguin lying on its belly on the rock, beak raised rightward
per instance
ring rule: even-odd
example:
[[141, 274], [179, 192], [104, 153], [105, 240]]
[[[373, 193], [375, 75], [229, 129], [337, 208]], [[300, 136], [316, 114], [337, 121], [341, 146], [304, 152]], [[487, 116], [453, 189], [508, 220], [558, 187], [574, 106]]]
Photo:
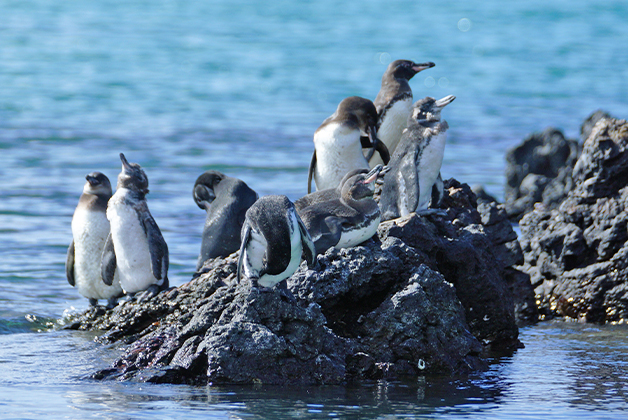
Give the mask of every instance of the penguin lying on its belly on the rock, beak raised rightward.
[[317, 254], [331, 247], [359, 245], [375, 235], [381, 214], [373, 193], [382, 170], [382, 165], [377, 165], [368, 173], [353, 175], [343, 184], [340, 197], [315, 203], [299, 212]]

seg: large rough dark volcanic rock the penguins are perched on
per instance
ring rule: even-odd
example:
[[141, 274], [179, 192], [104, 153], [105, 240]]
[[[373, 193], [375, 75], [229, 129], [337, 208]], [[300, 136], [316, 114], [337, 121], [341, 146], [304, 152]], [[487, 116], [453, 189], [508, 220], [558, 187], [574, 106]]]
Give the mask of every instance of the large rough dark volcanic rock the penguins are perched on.
[[318, 256], [314, 269], [303, 263], [288, 279], [293, 298], [237, 284], [234, 254], [67, 328], [104, 330], [101, 341], [124, 345], [99, 379], [334, 384], [482, 369], [488, 352], [520, 346], [512, 290], [522, 289], [512, 283], [527, 276], [512, 267], [521, 253], [503, 209], [480, 214], [466, 184], [445, 187], [447, 216], [388, 221], [364, 244]]

